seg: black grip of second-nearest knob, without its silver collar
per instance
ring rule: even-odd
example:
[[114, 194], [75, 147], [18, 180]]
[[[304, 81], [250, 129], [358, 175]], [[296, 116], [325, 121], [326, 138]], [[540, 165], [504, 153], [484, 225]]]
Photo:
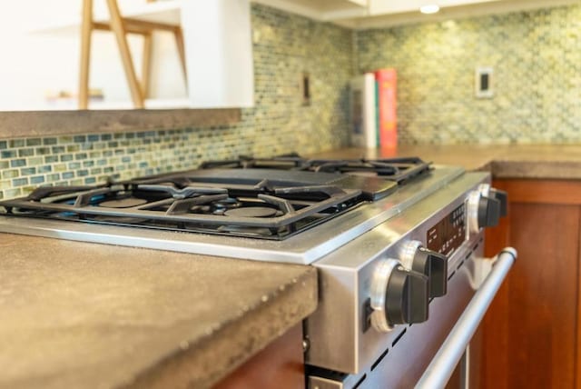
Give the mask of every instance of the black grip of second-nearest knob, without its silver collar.
[[411, 270], [428, 276], [429, 298], [441, 297], [448, 291], [448, 257], [420, 246]]

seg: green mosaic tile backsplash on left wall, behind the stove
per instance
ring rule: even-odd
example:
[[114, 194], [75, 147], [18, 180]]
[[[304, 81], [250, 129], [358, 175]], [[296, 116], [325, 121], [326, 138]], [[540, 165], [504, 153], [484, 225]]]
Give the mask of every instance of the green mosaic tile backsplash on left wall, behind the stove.
[[[348, 145], [352, 31], [263, 5], [251, 8], [255, 106], [236, 125], [0, 140], [0, 199], [38, 185], [93, 185], [193, 168], [209, 159]], [[332, 69], [332, 71], [330, 71]], [[310, 105], [300, 76], [310, 75]]]

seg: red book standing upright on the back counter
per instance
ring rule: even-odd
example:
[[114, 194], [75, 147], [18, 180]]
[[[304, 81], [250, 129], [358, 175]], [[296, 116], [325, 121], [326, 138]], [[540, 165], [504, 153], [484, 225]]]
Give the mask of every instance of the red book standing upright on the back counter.
[[396, 113], [396, 69], [375, 72], [379, 100], [379, 146], [395, 148], [398, 145], [398, 115]]

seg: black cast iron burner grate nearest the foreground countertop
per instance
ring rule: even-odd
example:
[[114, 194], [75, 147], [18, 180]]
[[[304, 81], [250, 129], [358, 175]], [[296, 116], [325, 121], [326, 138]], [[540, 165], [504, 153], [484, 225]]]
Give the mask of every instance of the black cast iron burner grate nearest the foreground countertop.
[[281, 240], [362, 202], [361, 191], [333, 185], [157, 181], [44, 186], [0, 206], [5, 215]]

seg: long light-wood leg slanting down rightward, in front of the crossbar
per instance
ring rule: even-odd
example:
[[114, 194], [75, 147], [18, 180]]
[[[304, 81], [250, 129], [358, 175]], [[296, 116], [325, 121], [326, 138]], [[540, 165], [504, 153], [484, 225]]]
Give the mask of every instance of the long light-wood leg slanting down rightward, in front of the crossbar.
[[117, 39], [117, 45], [119, 45], [119, 52], [123, 61], [123, 68], [125, 70], [125, 76], [127, 77], [127, 83], [129, 84], [129, 90], [131, 91], [133, 105], [135, 108], [143, 108], [143, 95], [140, 90], [141, 86], [139, 85], [137, 76], [135, 75], [123, 18], [119, 12], [116, 0], [107, 0], [107, 5], [109, 6], [109, 14], [111, 15], [111, 28], [113, 29], [113, 33]]

